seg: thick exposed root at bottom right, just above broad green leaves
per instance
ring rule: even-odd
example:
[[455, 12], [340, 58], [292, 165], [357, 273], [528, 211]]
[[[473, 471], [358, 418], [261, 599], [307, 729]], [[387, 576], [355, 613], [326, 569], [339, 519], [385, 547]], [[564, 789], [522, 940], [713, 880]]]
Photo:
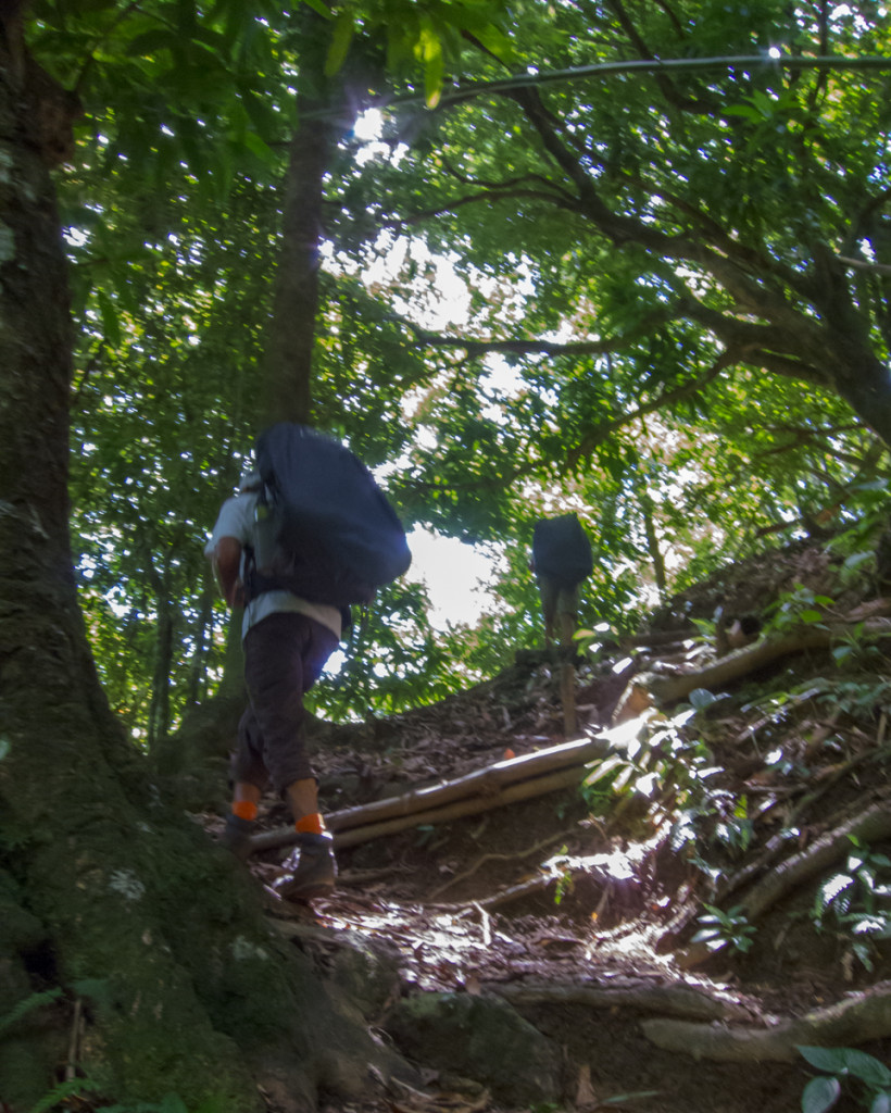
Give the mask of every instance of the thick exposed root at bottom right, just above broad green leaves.
[[848, 1047], [891, 1035], [891, 983], [845, 997], [804, 1016], [774, 1021], [769, 1027], [732, 1028], [691, 1021], [643, 1021], [646, 1038], [664, 1051], [723, 1063], [788, 1063], [799, 1044]]

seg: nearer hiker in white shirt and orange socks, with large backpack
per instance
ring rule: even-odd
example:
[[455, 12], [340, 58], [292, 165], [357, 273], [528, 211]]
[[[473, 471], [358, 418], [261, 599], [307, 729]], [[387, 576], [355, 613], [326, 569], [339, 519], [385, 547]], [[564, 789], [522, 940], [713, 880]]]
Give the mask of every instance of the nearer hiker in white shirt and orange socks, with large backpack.
[[333, 839], [304, 740], [304, 695], [337, 648], [349, 608], [406, 571], [405, 532], [370, 472], [305, 425], [274, 425], [256, 469], [222, 504], [205, 552], [226, 601], [244, 607], [248, 707], [231, 760], [222, 841], [247, 859], [267, 785], [285, 797], [295, 854], [274, 887], [304, 900], [334, 889]]

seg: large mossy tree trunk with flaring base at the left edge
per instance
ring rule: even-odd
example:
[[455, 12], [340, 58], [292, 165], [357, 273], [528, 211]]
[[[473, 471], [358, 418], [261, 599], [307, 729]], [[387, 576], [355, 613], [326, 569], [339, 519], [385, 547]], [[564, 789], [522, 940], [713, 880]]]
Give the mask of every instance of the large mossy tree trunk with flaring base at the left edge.
[[[0, 43], [4, 40], [0, 38]], [[0, 45], [0, 1015], [82, 999], [78, 1070], [102, 1094], [250, 1113], [257, 1082], [314, 1105], [355, 1092], [372, 1042], [247, 874], [180, 810], [111, 715], [78, 607], [68, 522], [71, 323], [61, 230], [21, 68]], [[308, 1004], [311, 1003], [311, 1006]], [[46, 1035], [46, 1026], [38, 1031]], [[9, 1033], [7, 1033], [9, 1035]], [[56, 1081], [0, 1076], [13, 1109]], [[2, 1036], [0, 1036], [2, 1038]], [[67, 1041], [67, 1032], [65, 1035]], [[29, 1047], [23, 1056], [23, 1048]], [[0, 1070], [10, 1057], [0, 1055]], [[353, 1064], [360, 1064], [360, 1071]]]

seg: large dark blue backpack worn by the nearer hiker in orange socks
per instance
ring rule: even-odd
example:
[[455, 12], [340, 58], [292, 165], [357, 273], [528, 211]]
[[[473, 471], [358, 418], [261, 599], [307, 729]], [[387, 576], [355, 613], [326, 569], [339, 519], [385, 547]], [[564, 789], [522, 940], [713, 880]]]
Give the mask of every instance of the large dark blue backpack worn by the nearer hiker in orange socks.
[[280, 422], [256, 445], [257, 503], [250, 598], [286, 589], [329, 607], [367, 603], [402, 575], [412, 553], [374, 476], [345, 445]]

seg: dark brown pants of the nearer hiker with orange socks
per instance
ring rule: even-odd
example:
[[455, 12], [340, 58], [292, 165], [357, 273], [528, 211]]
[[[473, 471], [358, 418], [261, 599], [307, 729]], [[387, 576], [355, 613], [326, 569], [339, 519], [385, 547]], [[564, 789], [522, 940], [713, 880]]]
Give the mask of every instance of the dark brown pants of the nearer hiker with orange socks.
[[337, 648], [334, 631], [297, 612], [270, 614], [245, 638], [249, 703], [238, 723], [231, 776], [279, 795], [313, 777], [304, 740], [304, 693]]

